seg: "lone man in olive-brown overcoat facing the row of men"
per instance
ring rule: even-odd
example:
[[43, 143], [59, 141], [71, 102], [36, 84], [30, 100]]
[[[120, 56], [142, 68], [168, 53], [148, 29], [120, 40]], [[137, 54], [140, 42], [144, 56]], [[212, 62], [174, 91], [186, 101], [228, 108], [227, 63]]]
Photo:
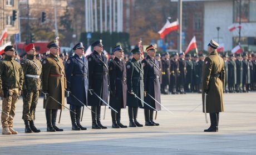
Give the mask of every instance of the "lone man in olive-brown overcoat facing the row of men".
[[[205, 132], [218, 132], [219, 112], [224, 111], [223, 86], [225, 85], [224, 61], [216, 49], [218, 43], [211, 40], [208, 44], [209, 55], [203, 65], [203, 103], [206, 95], [206, 112], [210, 113], [211, 126]], [[204, 104], [203, 104], [203, 112]]]

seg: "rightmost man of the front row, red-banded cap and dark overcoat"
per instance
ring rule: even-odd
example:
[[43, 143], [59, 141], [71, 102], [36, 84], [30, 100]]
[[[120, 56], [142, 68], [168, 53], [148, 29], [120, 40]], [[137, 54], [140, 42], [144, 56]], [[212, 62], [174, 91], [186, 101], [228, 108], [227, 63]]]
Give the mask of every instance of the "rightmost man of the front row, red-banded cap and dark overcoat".
[[[161, 110], [161, 105], [156, 102], [161, 102], [160, 68], [158, 61], [155, 60], [156, 50], [154, 45], [147, 46], [146, 51], [146, 59], [142, 60], [144, 69], [144, 97], [145, 102], [158, 111]], [[154, 97], [156, 101], [148, 94]], [[159, 126], [159, 123], [153, 121], [154, 110], [151, 107], [147, 105], [142, 107], [144, 108], [145, 126]]]

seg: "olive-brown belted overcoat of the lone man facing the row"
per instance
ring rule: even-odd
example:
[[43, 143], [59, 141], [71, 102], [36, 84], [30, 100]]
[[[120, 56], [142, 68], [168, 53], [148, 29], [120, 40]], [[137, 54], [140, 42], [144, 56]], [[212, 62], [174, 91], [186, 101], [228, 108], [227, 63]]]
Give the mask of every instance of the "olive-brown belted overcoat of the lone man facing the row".
[[[220, 77], [213, 76], [214, 74], [220, 74]], [[206, 112], [223, 112], [223, 86], [225, 84], [225, 69], [224, 61], [218, 55], [217, 51], [208, 55], [204, 60], [203, 65], [203, 85], [202, 85], [202, 97], [204, 103], [204, 93], [208, 90], [206, 96]], [[203, 104], [204, 112], [204, 104]]]

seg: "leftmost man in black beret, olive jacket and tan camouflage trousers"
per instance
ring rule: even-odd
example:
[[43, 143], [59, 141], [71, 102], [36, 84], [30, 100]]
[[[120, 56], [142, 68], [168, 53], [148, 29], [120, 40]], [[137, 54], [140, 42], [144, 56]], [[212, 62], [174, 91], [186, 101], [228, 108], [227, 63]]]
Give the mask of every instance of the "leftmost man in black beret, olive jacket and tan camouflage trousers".
[[13, 130], [13, 117], [15, 115], [16, 102], [21, 95], [23, 85], [23, 71], [21, 65], [14, 60], [15, 49], [12, 45], [4, 48], [6, 56], [0, 61], [0, 96], [2, 105], [2, 134], [11, 135], [18, 132]]

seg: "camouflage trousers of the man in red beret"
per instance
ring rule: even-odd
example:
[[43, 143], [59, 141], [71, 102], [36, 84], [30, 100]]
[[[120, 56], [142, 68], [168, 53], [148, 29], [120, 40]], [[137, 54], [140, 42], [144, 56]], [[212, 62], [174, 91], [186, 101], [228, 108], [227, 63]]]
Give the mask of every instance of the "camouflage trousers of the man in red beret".
[[39, 97], [39, 90], [22, 94], [23, 96], [23, 120], [35, 120], [36, 105]]

